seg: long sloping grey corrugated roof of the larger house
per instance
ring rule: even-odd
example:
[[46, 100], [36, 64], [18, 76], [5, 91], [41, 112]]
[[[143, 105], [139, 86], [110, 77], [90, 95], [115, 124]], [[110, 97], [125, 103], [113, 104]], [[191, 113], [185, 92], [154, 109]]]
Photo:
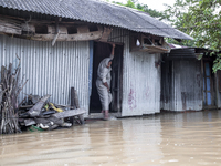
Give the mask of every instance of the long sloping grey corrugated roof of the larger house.
[[160, 37], [188, 39], [191, 37], [151, 18], [145, 12], [95, 0], [0, 0], [9, 9], [69, 18], [150, 33]]

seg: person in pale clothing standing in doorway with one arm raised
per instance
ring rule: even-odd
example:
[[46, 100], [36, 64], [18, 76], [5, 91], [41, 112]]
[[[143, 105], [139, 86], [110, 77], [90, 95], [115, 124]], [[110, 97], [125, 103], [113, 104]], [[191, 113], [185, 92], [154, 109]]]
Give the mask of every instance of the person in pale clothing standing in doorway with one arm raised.
[[104, 114], [104, 120], [109, 117], [109, 104], [112, 102], [110, 89], [110, 71], [112, 71], [112, 60], [114, 59], [115, 44], [112, 44], [112, 54], [109, 58], [104, 59], [97, 70], [96, 87], [99, 95], [99, 101], [102, 103], [102, 112]]

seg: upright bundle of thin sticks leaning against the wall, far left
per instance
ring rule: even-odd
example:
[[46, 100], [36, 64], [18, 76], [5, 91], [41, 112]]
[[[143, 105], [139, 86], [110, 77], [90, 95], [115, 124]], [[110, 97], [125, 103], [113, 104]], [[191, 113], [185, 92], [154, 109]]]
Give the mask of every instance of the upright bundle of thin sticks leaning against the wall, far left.
[[[0, 134], [21, 133], [18, 123], [18, 96], [24, 84], [19, 84], [20, 63], [12, 71], [12, 63], [9, 66], [1, 66], [0, 85]], [[28, 81], [28, 80], [27, 80]]]

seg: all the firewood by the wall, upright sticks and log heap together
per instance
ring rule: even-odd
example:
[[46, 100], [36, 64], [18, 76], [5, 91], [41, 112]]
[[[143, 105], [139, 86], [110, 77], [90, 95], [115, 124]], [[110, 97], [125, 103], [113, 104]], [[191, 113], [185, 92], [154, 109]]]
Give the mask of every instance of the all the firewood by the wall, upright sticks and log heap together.
[[[19, 58], [18, 58], [19, 59]], [[20, 59], [19, 59], [20, 60]], [[83, 124], [85, 110], [78, 107], [77, 94], [72, 106], [48, 102], [50, 95], [28, 95], [19, 104], [19, 94], [27, 84], [20, 80], [20, 63], [13, 70], [12, 63], [1, 66], [0, 82], [0, 134], [21, 133], [23, 129], [45, 131]], [[76, 93], [76, 91], [74, 91]]]

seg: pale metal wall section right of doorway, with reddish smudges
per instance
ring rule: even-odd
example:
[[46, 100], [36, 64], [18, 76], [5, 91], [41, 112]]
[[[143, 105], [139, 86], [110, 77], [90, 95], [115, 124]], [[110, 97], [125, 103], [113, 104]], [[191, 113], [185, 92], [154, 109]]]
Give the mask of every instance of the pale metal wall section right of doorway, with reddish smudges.
[[160, 66], [155, 62], [160, 54], [129, 52], [129, 32], [115, 30], [109, 41], [124, 43], [123, 55], [123, 116], [160, 112]]

